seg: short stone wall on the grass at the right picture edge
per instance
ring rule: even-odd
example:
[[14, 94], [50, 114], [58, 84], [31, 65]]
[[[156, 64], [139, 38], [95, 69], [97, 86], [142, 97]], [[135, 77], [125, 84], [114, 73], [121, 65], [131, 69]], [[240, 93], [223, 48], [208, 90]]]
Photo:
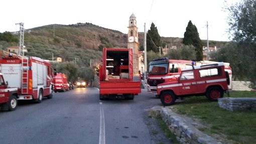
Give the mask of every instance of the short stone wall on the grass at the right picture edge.
[[255, 110], [256, 98], [253, 97], [227, 97], [218, 99], [219, 107], [230, 111]]

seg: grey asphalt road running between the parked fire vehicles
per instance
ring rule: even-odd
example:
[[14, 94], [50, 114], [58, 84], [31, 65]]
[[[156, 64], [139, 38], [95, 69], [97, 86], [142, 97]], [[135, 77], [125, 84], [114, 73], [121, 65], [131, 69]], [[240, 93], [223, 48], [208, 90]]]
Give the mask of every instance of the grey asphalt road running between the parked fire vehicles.
[[0, 111], [0, 143], [170, 143], [145, 112], [155, 105], [145, 89], [134, 100], [101, 101], [97, 88], [75, 88], [39, 104], [19, 101]]

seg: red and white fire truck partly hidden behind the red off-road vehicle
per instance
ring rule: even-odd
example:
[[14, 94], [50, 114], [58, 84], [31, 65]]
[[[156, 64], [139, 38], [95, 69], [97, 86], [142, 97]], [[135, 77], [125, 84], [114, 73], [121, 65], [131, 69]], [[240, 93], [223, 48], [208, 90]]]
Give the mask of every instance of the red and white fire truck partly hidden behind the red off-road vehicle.
[[[177, 81], [182, 69], [191, 68], [193, 61], [188, 60], [174, 60], [169, 58], [160, 58], [154, 59], [149, 63], [149, 74], [148, 74], [148, 85], [147, 89], [149, 93], [157, 94], [157, 85]], [[218, 62], [213, 61], [198, 61], [193, 62], [195, 66], [202, 64], [213, 64]], [[223, 63], [225, 66], [225, 71], [229, 74], [230, 81], [232, 80], [232, 69], [229, 66], [229, 63]], [[228, 88], [232, 89], [232, 82]], [[158, 95], [156, 95], [158, 97]]]

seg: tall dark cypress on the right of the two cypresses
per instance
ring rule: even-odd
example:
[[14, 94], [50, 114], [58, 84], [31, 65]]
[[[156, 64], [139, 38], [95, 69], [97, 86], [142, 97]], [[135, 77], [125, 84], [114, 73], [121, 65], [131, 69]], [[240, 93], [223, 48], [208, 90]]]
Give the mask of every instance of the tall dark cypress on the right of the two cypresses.
[[199, 34], [197, 32], [197, 28], [192, 24], [191, 21], [188, 22], [188, 26], [186, 28], [186, 32], [184, 33], [183, 38], [184, 45], [193, 45], [196, 49], [196, 61], [203, 60], [203, 45], [202, 41], [199, 38]]

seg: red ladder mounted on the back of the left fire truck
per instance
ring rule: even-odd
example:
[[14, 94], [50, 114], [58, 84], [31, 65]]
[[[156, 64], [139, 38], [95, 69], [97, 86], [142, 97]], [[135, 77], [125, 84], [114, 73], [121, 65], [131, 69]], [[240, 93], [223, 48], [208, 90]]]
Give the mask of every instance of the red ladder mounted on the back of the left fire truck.
[[22, 93], [29, 93], [29, 58], [22, 57]]

